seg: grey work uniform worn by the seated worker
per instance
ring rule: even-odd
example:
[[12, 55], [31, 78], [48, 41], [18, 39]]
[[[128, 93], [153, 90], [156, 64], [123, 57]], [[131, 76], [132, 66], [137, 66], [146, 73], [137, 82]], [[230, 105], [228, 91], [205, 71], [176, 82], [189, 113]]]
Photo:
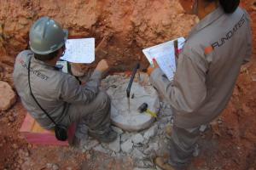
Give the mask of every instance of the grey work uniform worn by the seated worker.
[[[72, 75], [35, 59], [33, 55], [30, 50], [18, 54], [13, 77], [22, 104], [42, 127], [51, 129], [54, 123], [38, 107], [30, 94], [27, 77], [30, 58], [32, 93], [56, 123], [68, 127], [79, 121], [79, 127], [86, 124], [92, 131], [109, 126], [110, 99], [108, 94], [99, 90], [101, 72], [94, 71], [85, 85], [79, 85], [79, 81]], [[83, 129], [78, 130], [83, 132]]]

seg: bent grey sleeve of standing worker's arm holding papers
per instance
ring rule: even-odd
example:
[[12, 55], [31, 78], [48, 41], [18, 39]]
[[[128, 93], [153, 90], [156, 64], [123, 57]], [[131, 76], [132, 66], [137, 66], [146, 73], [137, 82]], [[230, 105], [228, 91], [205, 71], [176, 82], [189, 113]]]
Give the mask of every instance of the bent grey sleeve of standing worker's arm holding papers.
[[177, 71], [170, 82], [160, 69], [150, 76], [150, 82], [157, 91], [168, 99], [177, 114], [196, 111], [207, 96], [206, 61], [197, 56], [179, 55]]

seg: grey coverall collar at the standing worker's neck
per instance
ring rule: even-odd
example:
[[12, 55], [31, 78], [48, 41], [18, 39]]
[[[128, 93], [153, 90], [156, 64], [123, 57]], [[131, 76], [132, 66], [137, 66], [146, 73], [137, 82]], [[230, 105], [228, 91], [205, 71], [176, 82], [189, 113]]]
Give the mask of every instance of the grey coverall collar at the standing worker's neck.
[[[205, 27], [209, 26], [215, 20], [218, 20], [224, 14], [224, 10], [222, 7], [216, 8], [211, 14], [208, 14], [203, 20], [201, 20], [189, 33], [189, 37], [192, 37], [198, 31], [201, 31]], [[189, 39], [188, 37], [188, 39]]]

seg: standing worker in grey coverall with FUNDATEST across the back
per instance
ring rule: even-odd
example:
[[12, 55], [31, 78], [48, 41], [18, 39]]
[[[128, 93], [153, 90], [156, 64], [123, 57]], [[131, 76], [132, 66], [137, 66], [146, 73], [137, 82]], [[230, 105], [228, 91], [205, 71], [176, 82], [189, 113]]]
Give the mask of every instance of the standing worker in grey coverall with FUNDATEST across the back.
[[239, 0], [180, 0], [201, 20], [190, 32], [177, 59], [172, 82], [155, 67], [148, 74], [174, 111], [170, 158], [158, 157], [164, 170], [188, 167], [201, 125], [212, 122], [232, 95], [241, 65], [252, 54], [250, 17]]

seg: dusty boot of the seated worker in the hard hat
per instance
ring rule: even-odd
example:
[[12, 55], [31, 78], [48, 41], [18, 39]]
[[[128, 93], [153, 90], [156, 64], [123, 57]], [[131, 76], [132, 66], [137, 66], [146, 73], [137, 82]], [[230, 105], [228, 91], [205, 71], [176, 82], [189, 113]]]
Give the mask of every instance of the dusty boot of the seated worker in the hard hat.
[[108, 127], [108, 130], [105, 130], [103, 133], [89, 130], [88, 135], [103, 143], [113, 142], [117, 138], [117, 133], [111, 127]]

